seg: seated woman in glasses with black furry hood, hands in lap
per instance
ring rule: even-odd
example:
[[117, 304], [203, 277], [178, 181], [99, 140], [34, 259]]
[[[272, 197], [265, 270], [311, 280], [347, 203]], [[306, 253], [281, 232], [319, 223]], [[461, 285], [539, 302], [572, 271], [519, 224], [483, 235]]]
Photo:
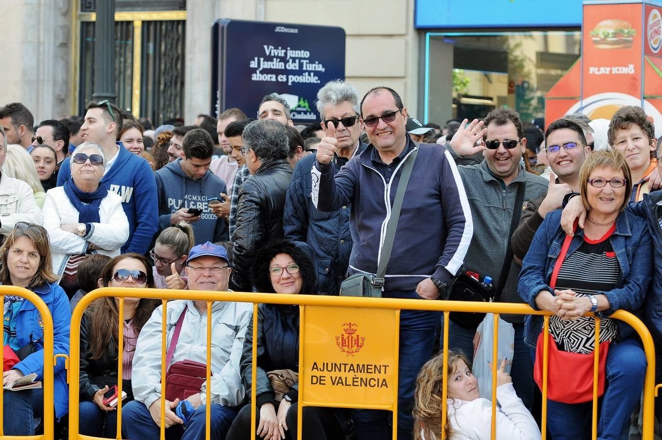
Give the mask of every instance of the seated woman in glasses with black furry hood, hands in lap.
[[[253, 265], [253, 284], [258, 292], [316, 294], [315, 269], [307, 252], [287, 240], [267, 243]], [[253, 320], [248, 324], [241, 374], [246, 396], [252, 384]], [[242, 408], [228, 431], [228, 440], [281, 440], [297, 438], [299, 382], [277, 396], [267, 372], [289, 370], [299, 373], [299, 306], [260, 304], [258, 306], [258, 373], [256, 386], [257, 433], [250, 433], [251, 404]], [[276, 400], [276, 399], [279, 400]], [[345, 438], [347, 411], [338, 408], [303, 408], [303, 438], [340, 440]]]

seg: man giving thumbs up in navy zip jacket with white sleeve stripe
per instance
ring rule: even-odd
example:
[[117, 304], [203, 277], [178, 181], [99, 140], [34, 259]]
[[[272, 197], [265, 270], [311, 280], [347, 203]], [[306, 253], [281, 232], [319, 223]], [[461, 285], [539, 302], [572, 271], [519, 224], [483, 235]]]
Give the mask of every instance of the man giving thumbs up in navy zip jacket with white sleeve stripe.
[[[312, 201], [326, 212], [352, 203], [354, 246], [348, 275], [374, 274], [402, 163], [418, 150], [404, 193], [383, 296], [434, 300], [446, 290], [464, 261], [473, 235], [471, 210], [450, 154], [438, 145], [413, 142], [406, 134], [406, 119], [407, 110], [393, 89], [371, 89], [361, 101], [361, 122], [371, 143], [337, 173], [332, 161], [338, 150], [336, 128], [325, 124], [327, 137], [318, 146], [311, 171]], [[412, 438], [416, 375], [432, 355], [438, 320], [437, 312], [401, 312], [399, 440]], [[355, 410], [354, 421], [359, 440], [392, 437], [385, 411]]]

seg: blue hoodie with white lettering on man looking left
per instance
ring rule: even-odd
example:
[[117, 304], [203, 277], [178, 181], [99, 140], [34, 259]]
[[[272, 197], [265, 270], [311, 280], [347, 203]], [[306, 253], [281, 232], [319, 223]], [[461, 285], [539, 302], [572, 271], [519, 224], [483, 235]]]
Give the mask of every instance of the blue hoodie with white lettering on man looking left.
[[[156, 181], [150, 163], [135, 155], [117, 142], [120, 148], [111, 170], [103, 175], [101, 185], [122, 197], [122, 208], [128, 218], [128, 240], [122, 253], [135, 252], [144, 255], [159, 226], [159, 205], [156, 197]], [[106, 157], [111, 159], [111, 157]], [[58, 173], [58, 187], [71, 177], [70, 157], [62, 161]]]

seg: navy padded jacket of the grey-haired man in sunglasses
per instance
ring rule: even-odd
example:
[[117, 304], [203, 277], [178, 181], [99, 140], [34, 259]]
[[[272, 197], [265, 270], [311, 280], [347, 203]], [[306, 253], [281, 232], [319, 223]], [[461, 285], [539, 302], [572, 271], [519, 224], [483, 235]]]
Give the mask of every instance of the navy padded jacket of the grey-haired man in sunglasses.
[[[366, 145], [359, 143], [355, 155], [361, 154]], [[323, 212], [312, 203], [310, 170], [314, 155], [307, 155], [297, 163], [285, 197], [283, 230], [285, 238], [308, 243], [317, 269], [318, 293], [337, 295], [340, 283], [345, 279], [352, 252], [350, 234], [351, 204], [339, 210]], [[340, 167], [334, 167], [336, 173]]]

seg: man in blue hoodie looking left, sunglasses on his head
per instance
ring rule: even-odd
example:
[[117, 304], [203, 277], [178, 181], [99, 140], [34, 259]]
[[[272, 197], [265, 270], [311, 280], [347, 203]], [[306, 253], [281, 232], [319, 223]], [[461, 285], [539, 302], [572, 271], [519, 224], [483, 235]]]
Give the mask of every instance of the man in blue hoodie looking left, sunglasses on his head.
[[[122, 116], [115, 105], [94, 101], [87, 105], [85, 122], [81, 126], [83, 142], [96, 142], [103, 148], [108, 165], [101, 185], [122, 197], [122, 208], [128, 218], [128, 240], [122, 246], [122, 253], [144, 255], [159, 226], [156, 181], [148, 161], [130, 153], [122, 142], [115, 141], [121, 130]], [[58, 186], [71, 178], [69, 161], [70, 157], [67, 157], [62, 162]]]

